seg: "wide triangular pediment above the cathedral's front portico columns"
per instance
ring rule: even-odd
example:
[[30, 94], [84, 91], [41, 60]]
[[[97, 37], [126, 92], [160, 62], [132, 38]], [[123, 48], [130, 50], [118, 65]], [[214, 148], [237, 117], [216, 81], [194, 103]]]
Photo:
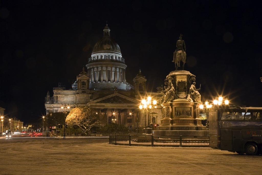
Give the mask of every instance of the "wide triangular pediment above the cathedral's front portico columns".
[[93, 100], [89, 103], [139, 104], [140, 101], [137, 99], [133, 99], [133, 98], [124, 96], [119, 93], [114, 93], [114, 94]]

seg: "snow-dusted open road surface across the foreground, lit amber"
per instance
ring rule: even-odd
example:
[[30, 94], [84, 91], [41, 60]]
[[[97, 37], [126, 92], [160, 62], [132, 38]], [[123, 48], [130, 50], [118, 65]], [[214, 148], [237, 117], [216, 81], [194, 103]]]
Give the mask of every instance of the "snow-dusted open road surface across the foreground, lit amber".
[[108, 139], [0, 139], [0, 174], [261, 174], [261, 156]]

